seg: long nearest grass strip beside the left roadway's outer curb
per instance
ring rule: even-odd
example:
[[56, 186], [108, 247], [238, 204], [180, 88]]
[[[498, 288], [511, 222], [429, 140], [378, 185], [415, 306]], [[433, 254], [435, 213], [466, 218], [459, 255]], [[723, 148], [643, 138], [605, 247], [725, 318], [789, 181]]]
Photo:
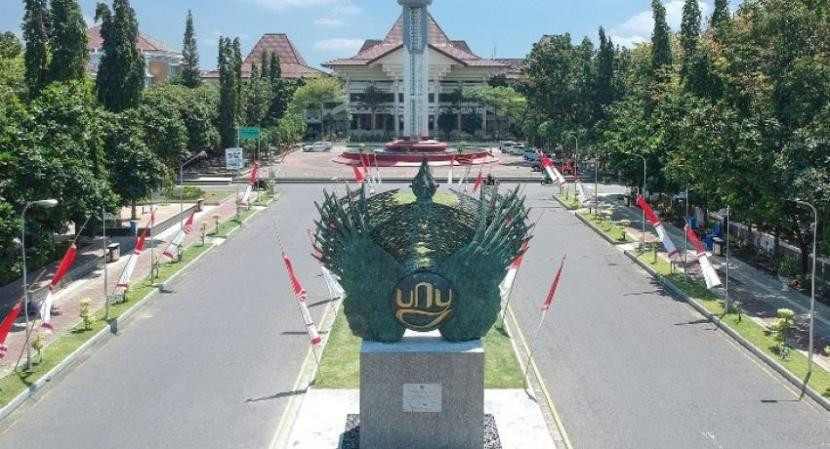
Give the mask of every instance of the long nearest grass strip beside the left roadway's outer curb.
[[[156, 282], [164, 282], [169, 279], [173, 276], [173, 274], [184, 268], [190, 261], [204, 253], [208, 248], [209, 246], [207, 245], [202, 246], [201, 244], [197, 244], [185, 249], [182, 253], [181, 262], [171, 262], [162, 265], [159, 269], [159, 279]], [[124, 314], [124, 312], [132, 308], [138, 299], [144, 298], [154, 289], [149, 277], [137, 282], [134, 285], [135, 286], [131, 288], [127, 294], [127, 301], [112, 304], [110, 306], [110, 319], [119, 318], [122, 314]], [[33, 352], [31, 372], [23, 373], [23, 367], [21, 367], [20, 372], [9, 373], [6, 377], [0, 379], [0, 407], [8, 404], [9, 401], [17, 397], [17, 395], [22, 393], [26, 388], [43, 377], [52, 368], [57, 366], [61, 361], [69, 356], [69, 354], [95, 336], [101, 329], [108, 326], [108, 323], [103, 321], [103, 319], [104, 310], [102, 308], [96, 313], [96, 319], [92, 323], [92, 328], [90, 330], [84, 329], [83, 323], [79, 323], [77, 326], [59, 336], [52, 341], [52, 343], [46, 346], [43, 349], [42, 360], [39, 360]]]

